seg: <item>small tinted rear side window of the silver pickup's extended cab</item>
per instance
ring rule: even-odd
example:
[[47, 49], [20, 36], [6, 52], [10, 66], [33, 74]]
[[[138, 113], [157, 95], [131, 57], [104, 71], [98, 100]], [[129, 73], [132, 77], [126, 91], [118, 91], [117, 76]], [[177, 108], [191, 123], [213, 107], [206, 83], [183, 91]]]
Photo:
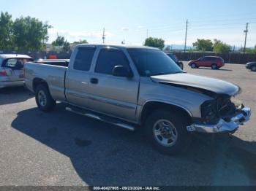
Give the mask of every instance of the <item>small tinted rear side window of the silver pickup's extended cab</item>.
[[75, 57], [74, 69], [89, 71], [95, 50], [96, 48], [94, 47], [79, 47], [78, 54]]

